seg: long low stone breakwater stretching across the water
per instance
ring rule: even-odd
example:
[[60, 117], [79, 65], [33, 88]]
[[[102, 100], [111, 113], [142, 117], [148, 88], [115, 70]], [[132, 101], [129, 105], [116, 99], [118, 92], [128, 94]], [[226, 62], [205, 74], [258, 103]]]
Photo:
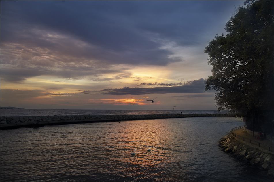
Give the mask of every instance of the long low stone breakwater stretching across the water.
[[22, 116], [6, 117], [1, 116], [1, 124], [56, 122], [72, 120], [143, 120], [143, 119], [164, 119], [164, 118], [185, 118], [185, 117], [210, 117], [210, 116], [236, 116], [236, 114], [147, 114], [147, 115], [74, 115], [74, 116]]

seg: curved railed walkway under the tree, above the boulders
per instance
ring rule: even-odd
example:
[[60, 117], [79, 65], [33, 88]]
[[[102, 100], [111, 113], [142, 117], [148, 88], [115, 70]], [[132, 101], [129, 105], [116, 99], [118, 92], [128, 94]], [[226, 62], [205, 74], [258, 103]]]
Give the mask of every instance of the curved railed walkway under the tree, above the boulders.
[[[244, 127], [244, 126], [242, 126], [242, 127]], [[250, 145], [252, 147], [258, 148], [259, 150], [261, 150], [263, 152], [269, 152], [271, 154], [274, 154], [274, 144], [271, 141], [253, 137], [252, 135], [244, 132], [242, 127], [237, 127], [239, 129], [231, 130], [231, 135], [235, 139], [237, 139], [247, 145]]]

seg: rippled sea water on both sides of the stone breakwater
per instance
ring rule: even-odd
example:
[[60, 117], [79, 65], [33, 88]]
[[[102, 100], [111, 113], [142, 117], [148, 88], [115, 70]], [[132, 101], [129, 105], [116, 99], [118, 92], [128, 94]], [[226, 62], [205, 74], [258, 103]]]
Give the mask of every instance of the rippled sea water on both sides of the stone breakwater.
[[[1, 116], [181, 112], [217, 113], [1, 109]], [[236, 117], [192, 117], [1, 130], [1, 181], [273, 181], [218, 147], [241, 125]]]

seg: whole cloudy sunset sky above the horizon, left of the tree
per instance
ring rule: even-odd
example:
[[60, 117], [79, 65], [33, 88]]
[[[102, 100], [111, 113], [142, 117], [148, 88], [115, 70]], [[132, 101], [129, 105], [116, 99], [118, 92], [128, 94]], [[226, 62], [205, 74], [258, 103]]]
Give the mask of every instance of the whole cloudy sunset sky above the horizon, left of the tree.
[[1, 0], [0, 105], [216, 110], [205, 47], [243, 5]]

